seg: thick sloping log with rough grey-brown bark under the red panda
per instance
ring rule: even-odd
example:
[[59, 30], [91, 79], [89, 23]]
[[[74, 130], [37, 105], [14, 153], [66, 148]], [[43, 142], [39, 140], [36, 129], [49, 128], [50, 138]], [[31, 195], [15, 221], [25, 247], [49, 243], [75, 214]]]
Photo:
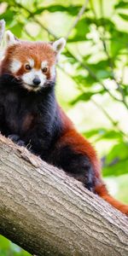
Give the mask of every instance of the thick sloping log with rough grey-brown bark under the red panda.
[[0, 136], [0, 233], [43, 255], [128, 255], [128, 218]]

